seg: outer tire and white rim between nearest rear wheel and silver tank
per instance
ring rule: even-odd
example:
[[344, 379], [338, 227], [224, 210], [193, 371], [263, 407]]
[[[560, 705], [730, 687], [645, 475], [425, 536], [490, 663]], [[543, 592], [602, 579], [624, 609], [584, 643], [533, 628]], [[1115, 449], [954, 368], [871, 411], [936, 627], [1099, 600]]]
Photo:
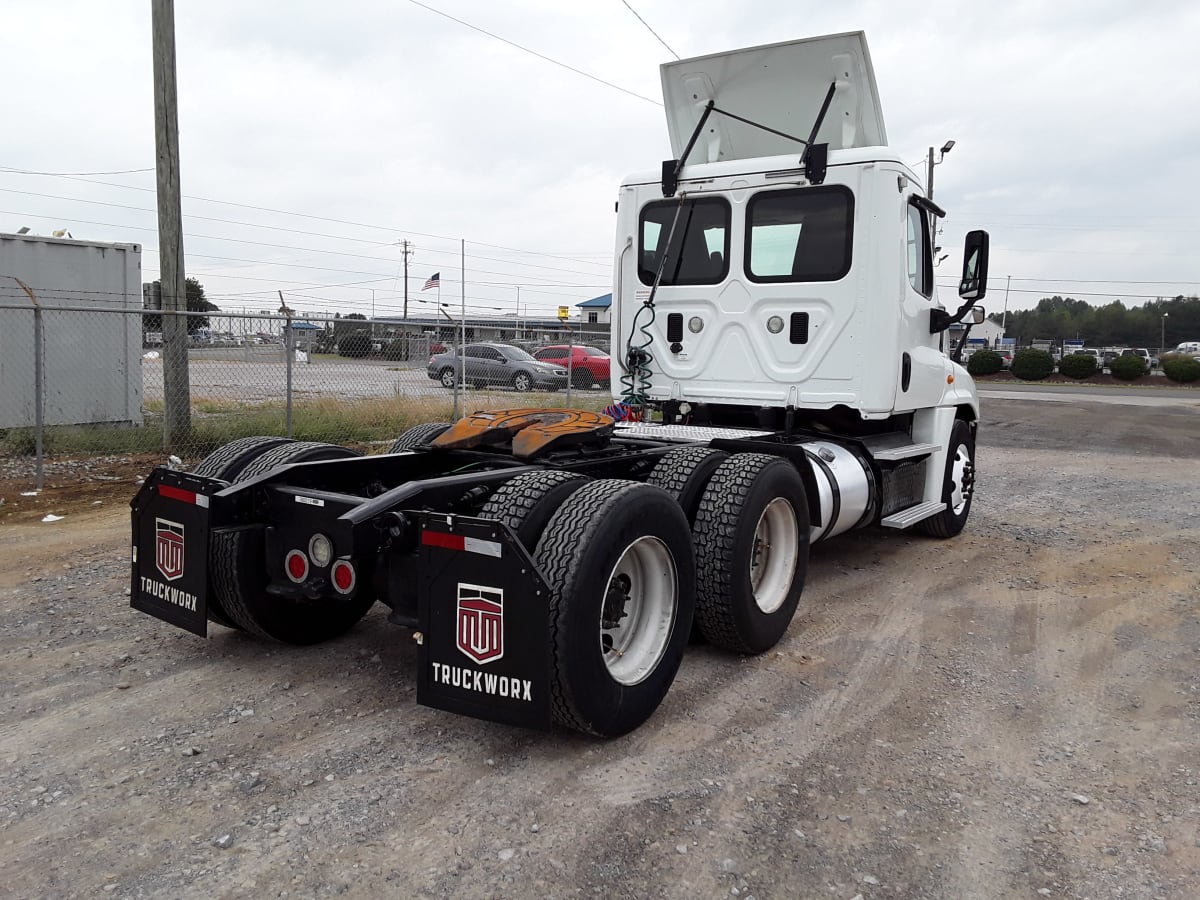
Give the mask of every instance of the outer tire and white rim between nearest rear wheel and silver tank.
[[784, 458], [736, 454], [700, 499], [696, 622], [718, 647], [762, 653], [787, 631], [809, 564], [804, 482]]

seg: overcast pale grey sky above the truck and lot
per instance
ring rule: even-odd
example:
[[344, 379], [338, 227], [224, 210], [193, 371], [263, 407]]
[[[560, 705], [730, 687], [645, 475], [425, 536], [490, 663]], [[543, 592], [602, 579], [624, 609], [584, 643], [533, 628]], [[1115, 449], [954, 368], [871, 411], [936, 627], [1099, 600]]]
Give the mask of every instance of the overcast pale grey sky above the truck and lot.
[[[0, 0], [0, 232], [137, 242], [148, 281], [150, 6]], [[889, 144], [923, 173], [956, 142], [936, 169], [942, 244], [991, 233], [989, 311], [1006, 276], [1009, 310], [1200, 293], [1195, 0], [629, 6], [180, 0], [187, 272], [222, 308], [274, 310], [282, 289], [299, 310], [398, 314], [408, 240], [409, 310], [431, 312], [425, 278], [457, 301], [466, 240], [469, 310], [574, 306], [611, 289], [622, 178], [671, 155], [660, 62], [864, 30]], [[64, 174], [131, 169], [150, 170]]]

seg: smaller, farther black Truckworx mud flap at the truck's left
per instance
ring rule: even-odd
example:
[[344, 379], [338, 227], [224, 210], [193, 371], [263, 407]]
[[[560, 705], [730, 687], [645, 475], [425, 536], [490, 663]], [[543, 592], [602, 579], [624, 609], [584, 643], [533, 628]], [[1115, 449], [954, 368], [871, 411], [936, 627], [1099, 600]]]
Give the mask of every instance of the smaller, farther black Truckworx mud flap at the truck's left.
[[223, 481], [155, 469], [133, 498], [130, 606], [208, 637], [209, 500]]

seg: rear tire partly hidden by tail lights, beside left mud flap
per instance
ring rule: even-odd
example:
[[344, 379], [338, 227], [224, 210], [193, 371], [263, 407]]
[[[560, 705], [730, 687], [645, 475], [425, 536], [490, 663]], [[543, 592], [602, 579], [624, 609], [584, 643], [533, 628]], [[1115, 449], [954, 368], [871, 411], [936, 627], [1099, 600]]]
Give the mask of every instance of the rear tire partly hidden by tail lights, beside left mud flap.
[[[359, 456], [335, 444], [290, 442], [253, 460], [239, 475], [248, 481], [278, 466]], [[214, 532], [209, 541], [209, 583], [238, 628], [283, 643], [328, 641], [361, 619], [374, 602], [371, 590], [346, 599], [294, 600], [266, 593], [266, 547], [259, 526]], [[368, 580], [364, 578], [366, 584]]]

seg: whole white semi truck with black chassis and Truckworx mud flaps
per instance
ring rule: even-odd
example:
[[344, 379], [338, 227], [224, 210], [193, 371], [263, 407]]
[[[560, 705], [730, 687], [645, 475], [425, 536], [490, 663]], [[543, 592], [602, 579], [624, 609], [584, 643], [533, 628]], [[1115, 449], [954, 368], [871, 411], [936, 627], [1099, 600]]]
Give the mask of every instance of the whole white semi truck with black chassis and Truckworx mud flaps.
[[619, 190], [611, 415], [479, 412], [373, 456], [251, 437], [156, 469], [136, 608], [305, 644], [383, 602], [420, 703], [607, 737], [654, 713], [694, 629], [774, 647], [812, 542], [961, 532], [979, 406], [946, 331], [983, 318], [988, 235], [943, 308], [943, 212], [887, 145], [864, 36], [661, 71], [677, 158]]

